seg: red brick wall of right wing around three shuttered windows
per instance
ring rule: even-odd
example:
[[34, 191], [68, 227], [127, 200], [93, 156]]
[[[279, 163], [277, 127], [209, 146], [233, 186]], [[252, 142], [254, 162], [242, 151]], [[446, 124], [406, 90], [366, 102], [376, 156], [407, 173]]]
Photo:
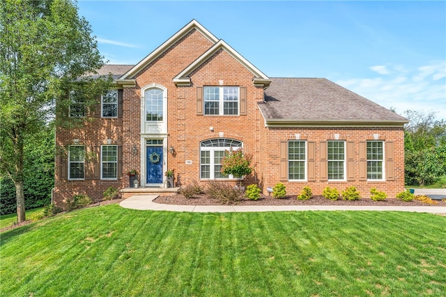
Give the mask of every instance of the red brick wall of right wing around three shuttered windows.
[[[262, 172], [263, 190], [267, 186], [274, 186], [282, 182], [289, 194], [299, 194], [304, 186], [310, 186], [314, 195], [321, 195], [326, 186], [336, 187], [341, 191], [348, 186], [356, 186], [364, 198], [370, 197], [370, 188], [376, 187], [385, 191], [387, 197], [395, 198], [395, 195], [404, 189], [404, 136], [402, 128], [275, 128], [263, 127], [261, 142], [263, 150], [261, 154], [265, 158], [261, 162], [259, 171]], [[283, 182], [279, 180], [280, 142], [295, 139], [294, 134], [300, 134], [305, 141], [316, 142], [316, 182]], [[321, 141], [334, 139], [334, 134], [339, 134], [339, 140], [353, 141], [355, 143], [355, 182], [321, 182]], [[360, 181], [359, 180], [359, 143], [373, 141], [373, 134], [380, 134], [380, 141], [394, 143], [394, 180], [392, 181]]]

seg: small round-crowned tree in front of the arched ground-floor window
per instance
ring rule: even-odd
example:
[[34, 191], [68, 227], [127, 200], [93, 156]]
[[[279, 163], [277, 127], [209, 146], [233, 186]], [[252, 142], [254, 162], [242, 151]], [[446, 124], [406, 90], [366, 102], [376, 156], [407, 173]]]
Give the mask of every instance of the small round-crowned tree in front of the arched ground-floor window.
[[[222, 173], [224, 175], [233, 175], [236, 178], [241, 178], [243, 175], [250, 175], [252, 168], [249, 167], [251, 157], [243, 154], [243, 150], [229, 150], [224, 152], [222, 159]], [[240, 181], [241, 186], [241, 181]]]

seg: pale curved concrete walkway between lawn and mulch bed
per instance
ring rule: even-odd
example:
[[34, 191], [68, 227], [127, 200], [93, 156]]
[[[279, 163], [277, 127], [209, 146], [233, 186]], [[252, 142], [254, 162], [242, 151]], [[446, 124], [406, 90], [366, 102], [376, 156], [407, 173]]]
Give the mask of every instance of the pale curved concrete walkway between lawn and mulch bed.
[[128, 209], [164, 210], [187, 212], [247, 212], [247, 211], [413, 211], [431, 214], [446, 214], [446, 207], [378, 207], [378, 206], [328, 206], [328, 205], [290, 205], [290, 206], [240, 206], [240, 205], [171, 205], [155, 203], [157, 195], [134, 195], [119, 205]]

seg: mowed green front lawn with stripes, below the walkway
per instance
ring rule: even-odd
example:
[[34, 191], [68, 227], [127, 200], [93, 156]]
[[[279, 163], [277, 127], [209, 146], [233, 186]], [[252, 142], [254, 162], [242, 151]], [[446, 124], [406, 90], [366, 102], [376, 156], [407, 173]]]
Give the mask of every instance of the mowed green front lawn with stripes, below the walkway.
[[1, 234], [1, 296], [442, 296], [446, 217], [118, 205]]

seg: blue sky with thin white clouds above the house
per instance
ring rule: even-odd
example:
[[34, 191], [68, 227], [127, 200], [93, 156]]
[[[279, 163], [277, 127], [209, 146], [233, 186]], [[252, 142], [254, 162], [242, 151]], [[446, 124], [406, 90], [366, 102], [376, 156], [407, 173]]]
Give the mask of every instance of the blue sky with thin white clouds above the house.
[[446, 1], [82, 1], [110, 64], [136, 64], [197, 19], [269, 77], [325, 77], [446, 119]]

